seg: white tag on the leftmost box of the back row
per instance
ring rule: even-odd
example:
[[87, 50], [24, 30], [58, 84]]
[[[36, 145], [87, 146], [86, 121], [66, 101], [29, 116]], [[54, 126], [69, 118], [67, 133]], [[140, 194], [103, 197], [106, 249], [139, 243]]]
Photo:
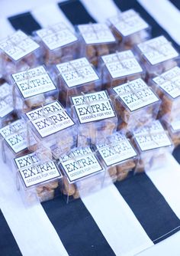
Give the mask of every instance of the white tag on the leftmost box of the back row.
[[21, 57], [37, 50], [37, 48], [40, 48], [40, 45], [21, 30], [0, 42], [0, 49], [5, 51], [14, 61], [18, 61]]

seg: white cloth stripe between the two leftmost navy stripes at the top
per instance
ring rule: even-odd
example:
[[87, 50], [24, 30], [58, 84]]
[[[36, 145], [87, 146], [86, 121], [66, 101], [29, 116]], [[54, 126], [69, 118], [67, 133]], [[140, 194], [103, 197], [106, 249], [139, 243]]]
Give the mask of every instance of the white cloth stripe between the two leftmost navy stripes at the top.
[[38, 8], [34, 8], [31, 13], [42, 28], [54, 25], [59, 21], [63, 21], [69, 26], [69, 28], [74, 30], [69, 19], [66, 18], [66, 15], [64, 15], [63, 11], [61, 11], [56, 4], [42, 5]]

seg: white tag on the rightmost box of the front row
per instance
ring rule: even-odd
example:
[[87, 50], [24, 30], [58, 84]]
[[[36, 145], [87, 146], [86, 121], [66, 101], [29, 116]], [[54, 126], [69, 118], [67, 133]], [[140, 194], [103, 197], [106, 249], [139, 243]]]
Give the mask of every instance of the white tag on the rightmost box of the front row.
[[144, 126], [133, 134], [142, 151], [172, 145], [159, 120], [153, 121], [151, 125]]

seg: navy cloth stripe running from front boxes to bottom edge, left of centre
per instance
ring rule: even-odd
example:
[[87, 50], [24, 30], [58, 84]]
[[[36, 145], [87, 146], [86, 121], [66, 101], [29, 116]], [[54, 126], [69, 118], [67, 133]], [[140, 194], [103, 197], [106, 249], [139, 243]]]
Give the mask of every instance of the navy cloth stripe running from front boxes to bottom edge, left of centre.
[[66, 205], [59, 197], [42, 205], [69, 255], [115, 255], [81, 199]]

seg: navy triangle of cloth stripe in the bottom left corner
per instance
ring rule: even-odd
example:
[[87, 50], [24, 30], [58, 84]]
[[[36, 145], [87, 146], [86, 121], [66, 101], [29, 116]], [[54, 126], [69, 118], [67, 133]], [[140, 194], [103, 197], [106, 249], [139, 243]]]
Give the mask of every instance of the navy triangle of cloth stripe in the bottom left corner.
[[8, 223], [0, 210], [0, 255], [2, 256], [21, 256], [21, 251], [11, 233]]

